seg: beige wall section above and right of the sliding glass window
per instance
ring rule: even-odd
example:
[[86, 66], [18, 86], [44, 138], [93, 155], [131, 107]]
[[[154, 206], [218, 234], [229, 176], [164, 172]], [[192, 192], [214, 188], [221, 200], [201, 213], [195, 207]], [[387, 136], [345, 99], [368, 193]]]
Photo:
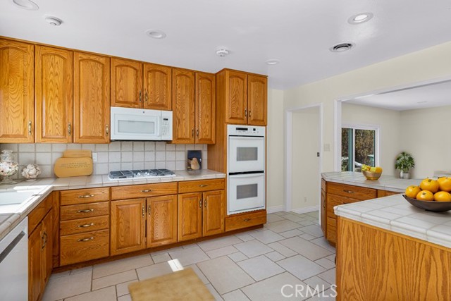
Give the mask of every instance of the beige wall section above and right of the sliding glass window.
[[400, 150], [400, 111], [342, 102], [341, 116], [343, 124], [378, 125], [379, 166], [385, 175], [397, 175], [395, 158]]

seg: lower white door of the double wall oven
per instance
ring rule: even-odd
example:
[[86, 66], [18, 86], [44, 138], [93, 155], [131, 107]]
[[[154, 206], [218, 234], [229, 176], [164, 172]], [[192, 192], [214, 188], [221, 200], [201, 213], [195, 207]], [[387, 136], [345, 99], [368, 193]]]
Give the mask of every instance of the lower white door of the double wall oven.
[[228, 176], [227, 214], [236, 214], [264, 208], [264, 173], [246, 173]]

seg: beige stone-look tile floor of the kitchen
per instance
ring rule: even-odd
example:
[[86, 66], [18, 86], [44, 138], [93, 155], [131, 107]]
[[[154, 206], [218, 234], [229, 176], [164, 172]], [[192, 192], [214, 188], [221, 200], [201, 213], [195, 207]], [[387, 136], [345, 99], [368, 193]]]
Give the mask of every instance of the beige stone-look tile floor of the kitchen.
[[52, 274], [43, 300], [128, 301], [128, 284], [171, 273], [172, 259], [216, 300], [335, 300], [335, 248], [318, 220], [317, 211], [277, 212], [258, 230]]

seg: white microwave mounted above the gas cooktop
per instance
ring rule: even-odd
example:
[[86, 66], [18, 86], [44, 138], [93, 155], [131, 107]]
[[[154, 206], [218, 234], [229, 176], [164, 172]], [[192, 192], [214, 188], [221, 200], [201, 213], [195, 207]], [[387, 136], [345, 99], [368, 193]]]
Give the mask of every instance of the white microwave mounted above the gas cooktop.
[[172, 111], [111, 106], [111, 140], [172, 140]]

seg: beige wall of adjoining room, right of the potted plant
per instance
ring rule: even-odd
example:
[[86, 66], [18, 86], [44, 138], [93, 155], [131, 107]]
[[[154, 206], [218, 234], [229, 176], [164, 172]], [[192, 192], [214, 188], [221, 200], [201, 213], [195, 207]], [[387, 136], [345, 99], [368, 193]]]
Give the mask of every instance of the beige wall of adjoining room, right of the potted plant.
[[400, 151], [414, 157], [414, 178], [451, 170], [451, 106], [402, 111], [401, 122]]

